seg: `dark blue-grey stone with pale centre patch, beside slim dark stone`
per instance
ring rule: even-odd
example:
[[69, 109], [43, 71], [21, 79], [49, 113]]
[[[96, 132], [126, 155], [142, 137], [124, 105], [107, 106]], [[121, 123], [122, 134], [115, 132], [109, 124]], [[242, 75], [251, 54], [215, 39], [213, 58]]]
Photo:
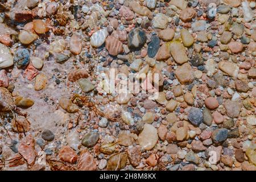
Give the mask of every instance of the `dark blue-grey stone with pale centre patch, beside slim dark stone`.
[[129, 48], [141, 48], [146, 43], [147, 36], [140, 27], [134, 28], [128, 34], [128, 47]]

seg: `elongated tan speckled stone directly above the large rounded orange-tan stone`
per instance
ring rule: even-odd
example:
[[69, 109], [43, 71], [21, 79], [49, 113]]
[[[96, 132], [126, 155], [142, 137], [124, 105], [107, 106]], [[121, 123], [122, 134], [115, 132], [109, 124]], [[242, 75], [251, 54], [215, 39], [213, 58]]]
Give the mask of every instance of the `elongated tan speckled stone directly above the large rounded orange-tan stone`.
[[183, 64], [188, 61], [188, 56], [186, 54], [185, 48], [180, 42], [171, 42], [170, 52], [176, 63]]

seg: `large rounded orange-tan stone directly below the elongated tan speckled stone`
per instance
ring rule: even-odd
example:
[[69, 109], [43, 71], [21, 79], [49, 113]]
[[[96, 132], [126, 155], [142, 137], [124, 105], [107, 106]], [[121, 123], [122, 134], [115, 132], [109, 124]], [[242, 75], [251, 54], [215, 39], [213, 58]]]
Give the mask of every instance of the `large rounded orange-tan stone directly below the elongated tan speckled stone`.
[[191, 84], [194, 80], [194, 72], [189, 63], [177, 67], [175, 76], [181, 82], [181, 84]]

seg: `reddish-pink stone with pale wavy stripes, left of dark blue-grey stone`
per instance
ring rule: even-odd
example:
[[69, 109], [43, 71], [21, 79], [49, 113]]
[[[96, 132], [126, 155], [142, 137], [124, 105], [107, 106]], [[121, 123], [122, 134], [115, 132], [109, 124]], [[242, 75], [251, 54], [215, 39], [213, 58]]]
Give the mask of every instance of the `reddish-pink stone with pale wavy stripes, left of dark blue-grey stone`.
[[109, 51], [110, 55], [117, 56], [119, 53], [123, 52], [123, 43], [114, 36], [108, 36], [108, 38], [106, 38], [106, 49]]

